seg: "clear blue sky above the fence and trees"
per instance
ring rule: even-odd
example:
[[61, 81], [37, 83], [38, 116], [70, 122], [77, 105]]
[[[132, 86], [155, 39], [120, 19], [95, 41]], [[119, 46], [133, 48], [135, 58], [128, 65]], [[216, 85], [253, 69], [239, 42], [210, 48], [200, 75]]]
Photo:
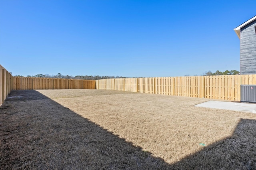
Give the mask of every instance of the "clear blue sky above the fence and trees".
[[256, 0], [0, 0], [13, 75], [164, 77], [240, 71], [234, 28]]

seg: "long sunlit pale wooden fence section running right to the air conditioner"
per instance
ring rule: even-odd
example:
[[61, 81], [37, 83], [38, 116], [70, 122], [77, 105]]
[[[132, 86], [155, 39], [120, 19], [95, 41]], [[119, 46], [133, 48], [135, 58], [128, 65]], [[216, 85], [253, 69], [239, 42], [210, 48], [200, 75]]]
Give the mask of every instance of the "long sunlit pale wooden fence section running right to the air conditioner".
[[240, 101], [240, 85], [256, 85], [256, 74], [96, 80], [96, 89]]

